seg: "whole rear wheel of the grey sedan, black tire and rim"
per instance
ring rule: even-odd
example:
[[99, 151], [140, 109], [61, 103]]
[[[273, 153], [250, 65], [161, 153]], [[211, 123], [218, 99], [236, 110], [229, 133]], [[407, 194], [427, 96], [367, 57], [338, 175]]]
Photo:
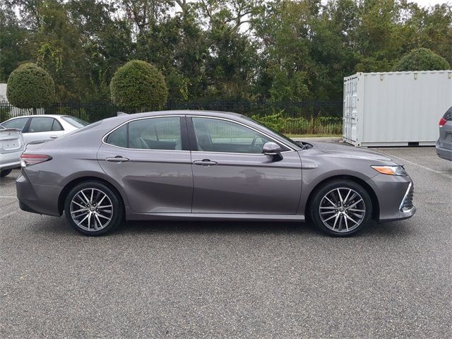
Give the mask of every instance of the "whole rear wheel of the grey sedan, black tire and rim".
[[[86, 203], [81, 192], [83, 192], [85, 197], [88, 198], [88, 203]], [[93, 198], [91, 198], [91, 192], [93, 192]], [[105, 197], [102, 194], [105, 195]], [[96, 198], [97, 201], [100, 201], [100, 204], [97, 205], [97, 208], [99, 209], [95, 208]], [[90, 203], [90, 200], [92, 201], [92, 204]], [[105, 203], [107, 203], [107, 205], [104, 205]], [[108, 208], [110, 205], [112, 206], [111, 213]], [[77, 210], [73, 209], [79, 208], [79, 210], [82, 210], [83, 207], [88, 210], [77, 212]], [[67, 220], [75, 230], [93, 237], [112, 232], [112, 230], [114, 230], [124, 220], [124, 207], [118, 194], [110, 189], [106, 184], [91, 180], [78, 184], [73, 187], [71, 191], [69, 191], [69, 194], [66, 196], [66, 200], [64, 201], [64, 213], [66, 214]], [[87, 216], [88, 219], [82, 221], [85, 216]], [[108, 218], [110, 218], [109, 221], [107, 221]], [[104, 220], [106, 225], [104, 227], [100, 227]], [[91, 222], [93, 222], [92, 227]], [[86, 225], [87, 223], [88, 225]]]

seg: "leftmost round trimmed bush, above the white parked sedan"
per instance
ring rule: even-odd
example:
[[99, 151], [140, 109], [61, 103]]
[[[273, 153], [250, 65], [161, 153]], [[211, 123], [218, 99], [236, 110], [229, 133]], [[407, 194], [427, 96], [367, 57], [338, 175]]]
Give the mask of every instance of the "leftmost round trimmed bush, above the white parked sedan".
[[37, 64], [22, 64], [8, 78], [6, 97], [19, 108], [47, 107], [54, 101], [55, 83]]

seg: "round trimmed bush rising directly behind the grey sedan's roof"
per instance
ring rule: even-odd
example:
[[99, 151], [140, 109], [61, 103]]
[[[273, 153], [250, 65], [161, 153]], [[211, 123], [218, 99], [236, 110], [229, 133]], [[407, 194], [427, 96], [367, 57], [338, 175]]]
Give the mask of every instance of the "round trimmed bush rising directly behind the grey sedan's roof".
[[161, 109], [168, 97], [162, 73], [141, 60], [119, 67], [110, 82], [110, 92], [115, 105], [133, 112]]

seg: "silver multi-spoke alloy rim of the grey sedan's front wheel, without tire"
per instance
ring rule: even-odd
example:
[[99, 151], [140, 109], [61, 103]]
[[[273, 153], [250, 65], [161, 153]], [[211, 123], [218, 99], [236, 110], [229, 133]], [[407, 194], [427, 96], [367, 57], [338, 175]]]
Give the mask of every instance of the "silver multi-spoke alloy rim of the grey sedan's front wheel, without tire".
[[364, 219], [366, 205], [357, 191], [339, 187], [323, 196], [319, 213], [323, 225], [330, 230], [350, 232], [355, 230]]

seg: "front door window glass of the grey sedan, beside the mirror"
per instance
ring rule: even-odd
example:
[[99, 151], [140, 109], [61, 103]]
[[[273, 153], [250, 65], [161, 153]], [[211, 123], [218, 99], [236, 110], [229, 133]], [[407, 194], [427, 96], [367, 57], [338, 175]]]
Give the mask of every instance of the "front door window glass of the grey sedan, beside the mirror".
[[222, 153], [262, 153], [270, 138], [231, 121], [194, 117], [198, 150]]

